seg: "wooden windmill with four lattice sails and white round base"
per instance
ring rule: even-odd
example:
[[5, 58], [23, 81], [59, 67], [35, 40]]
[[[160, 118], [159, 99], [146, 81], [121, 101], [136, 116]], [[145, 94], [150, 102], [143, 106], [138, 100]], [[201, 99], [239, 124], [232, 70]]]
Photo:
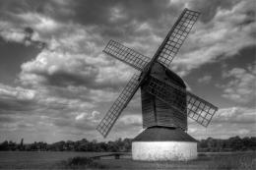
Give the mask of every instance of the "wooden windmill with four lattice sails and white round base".
[[197, 157], [197, 141], [187, 131], [187, 117], [207, 127], [216, 106], [186, 90], [168, 68], [200, 13], [184, 9], [152, 59], [110, 40], [103, 52], [139, 70], [96, 127], [105, 138], [123, 109], [141, 88], [143, 128], [132, 142], [135, 160], [188, 160]]

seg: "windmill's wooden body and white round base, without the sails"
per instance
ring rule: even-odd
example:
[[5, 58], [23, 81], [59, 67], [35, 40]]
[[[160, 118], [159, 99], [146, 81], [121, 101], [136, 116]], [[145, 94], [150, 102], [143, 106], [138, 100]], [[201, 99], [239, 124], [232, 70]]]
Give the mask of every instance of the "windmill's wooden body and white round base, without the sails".
[[[157, 63], [151, 75], [160, 81], [170, 82], [186, 89], [182, 79], [164, 66]], [[132, 142], [132, 156], [135, 160], [188, 160], [197, 157], [197, 141], [186, 134], [187, 115], [160, 98], [148, 92], [146, 85], [141, 86], [142, 117], [144, 132]], [[169, 96], [177, 98], [177, 107], [186, 108], [186, 95], [175, 93]]]

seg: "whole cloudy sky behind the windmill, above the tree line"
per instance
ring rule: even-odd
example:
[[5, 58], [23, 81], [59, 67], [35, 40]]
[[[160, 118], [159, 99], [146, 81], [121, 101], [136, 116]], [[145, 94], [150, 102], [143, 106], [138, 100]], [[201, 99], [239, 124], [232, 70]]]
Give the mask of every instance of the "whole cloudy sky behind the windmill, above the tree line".
[[114, 39], [153, 57], [184, 8], [201, 16], [170, 70], [219, 107], [208, 128], [188, 134], [256, 136], [253, 0], [1, 0], [0, 142], [134, 138], [140, 90], [106, 139], [96, 125], [134, 73], [102, 53]]

